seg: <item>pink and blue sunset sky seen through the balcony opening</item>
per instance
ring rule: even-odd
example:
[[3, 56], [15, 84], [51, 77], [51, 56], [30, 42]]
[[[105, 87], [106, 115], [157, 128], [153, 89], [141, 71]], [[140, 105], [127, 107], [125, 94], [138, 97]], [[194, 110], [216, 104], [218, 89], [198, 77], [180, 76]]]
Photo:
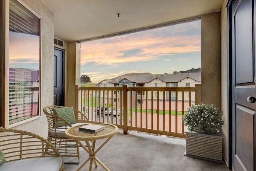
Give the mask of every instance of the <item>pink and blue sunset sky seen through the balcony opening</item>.
[[98, 83], [126, 73], [201, 67], [201, 21], [81, 43], [81, 75]]

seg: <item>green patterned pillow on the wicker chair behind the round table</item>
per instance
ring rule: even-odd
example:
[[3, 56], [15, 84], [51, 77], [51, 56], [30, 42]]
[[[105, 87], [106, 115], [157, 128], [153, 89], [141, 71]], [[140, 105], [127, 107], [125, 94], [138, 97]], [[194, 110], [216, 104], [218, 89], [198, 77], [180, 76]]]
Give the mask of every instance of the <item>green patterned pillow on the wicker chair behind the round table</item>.
[[[70, 123], [70, 124], [76, 123], [76, 117], [75, 117], [75, 113], [74, 113], [72, 106], [71, 107], [56, 107], [56, 108], [52, 108], [52, 111], [53, 111], [53, 114], [55, 114], [56, 116], [66, 119], [68, 123]], [[56, 121], [56, 127], [62, 127], [65, 125], [66, 124], [61, 120]]]

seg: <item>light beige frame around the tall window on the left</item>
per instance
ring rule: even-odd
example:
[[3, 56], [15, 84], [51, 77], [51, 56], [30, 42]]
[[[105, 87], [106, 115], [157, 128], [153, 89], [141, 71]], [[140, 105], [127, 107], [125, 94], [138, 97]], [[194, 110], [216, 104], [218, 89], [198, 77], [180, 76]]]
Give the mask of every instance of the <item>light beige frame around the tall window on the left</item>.
[[36, 17], [39, 18], [39, 24], [40, 24], [40, 28], [39, 28], [39, 96], [38, 96], [38, 108], [39, 108], [39, 111], [38, 111], [38, 116], [34, 116], [32, 118], [29, 118], [29, 119], [25, 119], [23, 121], [20, 121], [20, 122], [16, 122], [16, 123], [13, 123], [13, 124], [10, 124], [9, 125], [9, 8], [10, 8], [10, 3], [9, 3], [9, 0], [6, 0], [5, 1], [5, 4], [4, 4], [4, 38], [5, 38], [5, 41], [4, 41], [4, 63], [5, 63], [5, 67], [4, 67], [4, 71], [5, 71], [5, 75], [4, 75], [4, 102], [5, 102], [5, 105], [4, 105], [4, 114], [3, 114], [3, 117], [4, 117], [4, 121], [3, 121], [3, 128], [12, 128], [12, 127], [16, 127], [18, 125], [22, 125], [24, 123], [27, 123], [27, 122], [30, 122], [30, 121], [33, 121], [35, 119], [38, 119], [41, 117], [41, 87], [42, 87], [42, 79], [41, 79], [41, 76], [42, 76], [42, 17], [37, 14], [33, 9], [31, 9], [29, 6], [26, 5], [26, 3], [23, 3], [21, 0], [15, 0], [17, 1], [18, 3], [20, 3], [22, 6], [24, 6], [27, 10], [29, 10], [30, 12], [32, 12]]

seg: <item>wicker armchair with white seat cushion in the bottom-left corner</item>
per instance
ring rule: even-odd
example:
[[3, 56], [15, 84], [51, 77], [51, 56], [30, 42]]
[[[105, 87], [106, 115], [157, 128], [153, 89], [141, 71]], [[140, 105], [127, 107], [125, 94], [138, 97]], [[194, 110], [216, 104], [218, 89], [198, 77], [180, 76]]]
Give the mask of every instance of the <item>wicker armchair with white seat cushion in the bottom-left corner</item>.
[[34, 133], [1, 128], [0, 150], [6, 158], [6, 162], [0, 165], [0, 170], [64, 171], [58, 150]]

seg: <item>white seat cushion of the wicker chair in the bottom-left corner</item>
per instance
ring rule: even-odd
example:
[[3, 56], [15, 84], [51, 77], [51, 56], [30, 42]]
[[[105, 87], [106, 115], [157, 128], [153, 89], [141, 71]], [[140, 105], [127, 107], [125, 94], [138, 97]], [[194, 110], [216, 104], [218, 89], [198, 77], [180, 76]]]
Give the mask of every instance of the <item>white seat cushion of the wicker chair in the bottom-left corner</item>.
[[5, 162], [0, 171], [59, 171], [61, 165], [61, 157], [42, 157]]

